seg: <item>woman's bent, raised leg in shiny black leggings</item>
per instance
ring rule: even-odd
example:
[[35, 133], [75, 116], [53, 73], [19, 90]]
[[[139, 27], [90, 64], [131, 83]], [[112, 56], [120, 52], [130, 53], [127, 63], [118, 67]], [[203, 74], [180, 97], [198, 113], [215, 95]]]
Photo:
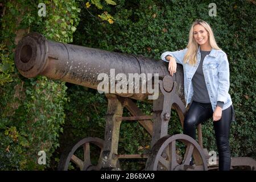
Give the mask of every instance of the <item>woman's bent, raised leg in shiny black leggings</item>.
[[212, 117], [213, 111], [210, 104], [193, 101], [184, 119], [183, 133], [196, 139], [196, 126]]

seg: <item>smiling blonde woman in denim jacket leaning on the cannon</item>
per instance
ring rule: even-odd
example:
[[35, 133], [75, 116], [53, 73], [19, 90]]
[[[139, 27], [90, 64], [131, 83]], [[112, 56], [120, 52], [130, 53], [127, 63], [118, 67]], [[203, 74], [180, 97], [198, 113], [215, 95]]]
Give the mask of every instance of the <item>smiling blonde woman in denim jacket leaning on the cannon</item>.
[[219, 155], [219, 169], [230, 169], [229, 130], [233, 105], [229, 91], [229, 63], [218, 46], [212, 28], [196, 20], [189, 31], [187, 48], [164, 52], [161, 59], [169, 62], [173, 76], [177, 63], [183, 65], [184, 94], [188, 112], [184, 119], [184, 134], [196, 139], [196, 126], [213, 118]]

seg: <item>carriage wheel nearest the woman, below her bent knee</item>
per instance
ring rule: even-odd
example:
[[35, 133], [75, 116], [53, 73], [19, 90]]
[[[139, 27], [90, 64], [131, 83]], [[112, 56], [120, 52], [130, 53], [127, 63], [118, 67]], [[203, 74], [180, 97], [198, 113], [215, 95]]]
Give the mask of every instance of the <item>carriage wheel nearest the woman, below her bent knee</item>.
[[[191, 163], [191, 157], [195, 164]], [[152, 147], [146, 170], [157, 171], [207, 171], [207, 161], [203, 150], [193, 138], [184, 134], [167, 135]]]

